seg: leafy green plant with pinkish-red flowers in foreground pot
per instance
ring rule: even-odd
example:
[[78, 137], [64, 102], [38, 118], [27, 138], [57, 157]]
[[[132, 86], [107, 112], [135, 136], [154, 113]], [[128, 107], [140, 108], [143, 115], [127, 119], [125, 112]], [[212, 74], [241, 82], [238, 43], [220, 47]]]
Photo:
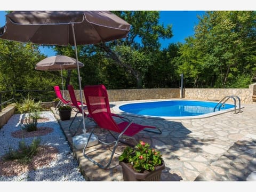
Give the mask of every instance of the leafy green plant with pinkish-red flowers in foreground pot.
[[155, 167], [162, 165], [162, 155], [159, 151], [149, 148], [149, 144], [140, 141], [134, 149], [126, 147], [118, 157], [120, 162], [130, 163], [137, 172], [155, 170]]

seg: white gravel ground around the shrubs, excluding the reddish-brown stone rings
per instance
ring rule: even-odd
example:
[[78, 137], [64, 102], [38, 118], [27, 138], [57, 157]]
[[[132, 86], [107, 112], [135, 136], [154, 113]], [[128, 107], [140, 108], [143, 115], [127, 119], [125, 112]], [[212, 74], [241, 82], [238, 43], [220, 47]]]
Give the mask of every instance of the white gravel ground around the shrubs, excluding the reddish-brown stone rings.
[[[19, 141], [22, 138], [17, 137], [16, 134], [22, 133], [20, 131], [21, 121], [25, 115], [13, 115], [8, 123], [0, 129], [0, 159], [9, 151], [10, 147], [13, 149], [18, 148]], [[31, 134], [31, 137], [26, 135], [23, 140], [29, 145], [35, 135], [39, 137], [41, 139], [40, 145], [43, 146], [43, 149], [49, 150], [49, 152], [52, 150], [51, 153], [40, 153], [41, 157], [39, 159], [44, 159], [42, 158], [43, 155], [51, 160], [43, 161], [44, 163], [41, 160], [41, 163], [38, 163], [33, 169], [23, 169], [18, 175], [7, 176], [3, 173], [3, 169], [0, 169], [0, 181], [85, 181], [54, 114], [51, 111], [43, 111], [40, 116], [44, 119], [44, 121], [38, 121], [37, 124], [37, 127], [42, 127], [39, 129], [40, 134]], [[42, 129], [46, 131], [45, 134], [41, 133]], [[3, 162], [0, 164], [3, 165]]]

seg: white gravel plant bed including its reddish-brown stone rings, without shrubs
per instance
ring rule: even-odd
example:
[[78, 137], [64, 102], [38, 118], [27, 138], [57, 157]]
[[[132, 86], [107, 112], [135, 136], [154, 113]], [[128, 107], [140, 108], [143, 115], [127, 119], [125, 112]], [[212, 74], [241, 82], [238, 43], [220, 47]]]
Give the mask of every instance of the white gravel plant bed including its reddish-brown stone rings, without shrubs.
[[[21, 119], [23, 119], [25, 115], [26, 114], [14, 114], [2, 129], [0, 129], [0, 182], [85, 181], [70, 146], [68, 145], [68, 141], [52, 111], [41, 112], [42, 117], [49, 119], [49, 121], [42, 126], [52, 128], [53, 131], [50, 134], [39, 136], [41, 143], [30, 163], [24, 164], [20, 161], [18, 162], [18, 160], [6, 161], [4, 156], [10, 147], [16, 150], [20, 140], [24, 140], [26, 145], [29, 145], [31, 139], [36, 137], [35, 135], [33, 137], [32, 134], [36, 134], [38, 131], [31, 131], [29, 133], [31, 137], [29, 138], [12, 137], [13, 132], [21, 130]], [[40, 127], [41, 126], [38, 128], [40, 129]]]

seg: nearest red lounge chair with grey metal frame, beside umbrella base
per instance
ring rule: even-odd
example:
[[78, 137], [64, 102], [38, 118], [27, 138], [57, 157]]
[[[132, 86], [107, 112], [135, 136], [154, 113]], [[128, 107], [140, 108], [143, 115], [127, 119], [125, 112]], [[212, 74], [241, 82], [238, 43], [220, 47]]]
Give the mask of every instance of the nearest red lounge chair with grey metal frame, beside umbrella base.
[[[127, 118], [123, 118], [118, 115], [113, 115], [110, 112], [110, 106], [109, 106], [109, 100], [108, 100], [108, 94], [106, 87], [104, 85], [92, 85], [92, 86], [85, 86], [84, 87], [84, 96], [86, 100], [87, 110], [89, 111], [90, 116], [93, 118], [94, 122], [98, 124], [99, 127], [102, 129], [106, 129], [110, 132], [110, 134], [115, 138], [115, 141], [111, 143], [106, 143], [104, 141], [101, 141], [99, 139], [99, 142], [105, 145], [111, 145], [115, 143], [115, 146], [112, 150], [109, 162], [106, 166], [103, 166], [102, 164], [95, 162], [92, 158], [87, 156], [85, 154], [85, 149], [87, 147], [87, 144], [84, 147], [83, 155], [85, 158], [89, 159], [94, 164], [98, 165], [102, 169], [106, 169], [113, 158], [113, 155], [115, 153], [115, 149], [122, 137], [128, 137], [132, 138], [136, 143], [137, 141], [133, 138], [133, 136], [140, 131], [148, 131], [148, 132], [154, 132], [161, 134], [162, 131], [155, 126], [148, 126], [148, 125], [140, 125], [137, 123], [132, 123], [132, 121], [129, 121]], [[121, 118], [123, 121], [120, 123], [117, 123], [113, 116]], [[94, 128], [93, 128], [94, 130]], [[91, 134], [93, 133], [93, 130]], [[118, 137], [115, 137], [111, 131], [118, 133]], [[87, 141], [89, 143], [90, 136]]]

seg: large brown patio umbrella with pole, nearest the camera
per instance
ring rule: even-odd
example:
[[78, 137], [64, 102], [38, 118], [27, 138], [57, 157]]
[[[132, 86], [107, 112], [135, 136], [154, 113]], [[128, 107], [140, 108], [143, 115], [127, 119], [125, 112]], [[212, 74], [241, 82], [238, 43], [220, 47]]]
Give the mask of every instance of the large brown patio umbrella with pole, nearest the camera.
[[[124, 38], [131, 25], [110, 11], [13, 11], [6, 14], [0, 38], [50, 45], [73, 45], [77, 60], [80, 100], [82, 86], [76, 45], [97, 44]], [[83, 112], [83, 111], [82, 111]], [[85, 119], [83, 115], [83, 128]]]

